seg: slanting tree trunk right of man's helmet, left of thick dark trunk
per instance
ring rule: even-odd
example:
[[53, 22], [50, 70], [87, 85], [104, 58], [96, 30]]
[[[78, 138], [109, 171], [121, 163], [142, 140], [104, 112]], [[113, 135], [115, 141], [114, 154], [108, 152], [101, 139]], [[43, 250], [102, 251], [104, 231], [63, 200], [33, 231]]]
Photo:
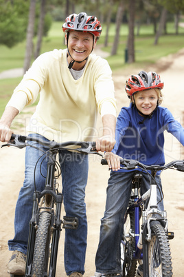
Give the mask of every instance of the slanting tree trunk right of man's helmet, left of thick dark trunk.
[[116, 30], [115, 30], [115, 40], [113, 43], [113, 48], [111, 50], [111, 55], [115, 55], [117, 53], [117, 47], [119, 44], [119, 31], [122, 23], [122, 17], [123, 17], [123, 12], [124, 12], [124, 0], [119, 1], [119, 6], [116, 14]]

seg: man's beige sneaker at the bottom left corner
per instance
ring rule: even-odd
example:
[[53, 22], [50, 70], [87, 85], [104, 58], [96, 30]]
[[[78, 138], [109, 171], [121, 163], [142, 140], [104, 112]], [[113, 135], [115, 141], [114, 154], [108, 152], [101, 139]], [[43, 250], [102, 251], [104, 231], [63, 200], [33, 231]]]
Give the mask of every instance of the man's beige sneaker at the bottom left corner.
[[8, 263], [8, 273], [24, 275], [25, 274], [25, 264], [26, 255], [20, 251], [15, 250]]

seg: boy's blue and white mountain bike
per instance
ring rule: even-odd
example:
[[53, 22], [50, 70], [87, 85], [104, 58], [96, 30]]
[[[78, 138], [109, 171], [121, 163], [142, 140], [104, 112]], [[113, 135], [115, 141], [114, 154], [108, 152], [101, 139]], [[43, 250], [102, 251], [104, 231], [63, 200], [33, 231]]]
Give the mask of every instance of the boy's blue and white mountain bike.
[[[107, 164], [102, 159], [102, 164]], [[172, 276], [172, 257], [169, 240], [174, 238], [168, 232], [167, 212], [160, 211], [157, 203], [157, 172], [175, 169], [184, 172], [184, 160], [172, 161], [167, 165], [143, 165], [136, 160], [121, 159], [121, 168], [137, 168], [150, 176], [150, 189], [142, 196], [141, 171], [135, 171], [130, 200], [124, 216], [124, 233], [121, 242], [121, 276], [133, 277], [137, 262], [143, 269], [143, 277]], [[160, 192], [161, 195], [163, 192]]]

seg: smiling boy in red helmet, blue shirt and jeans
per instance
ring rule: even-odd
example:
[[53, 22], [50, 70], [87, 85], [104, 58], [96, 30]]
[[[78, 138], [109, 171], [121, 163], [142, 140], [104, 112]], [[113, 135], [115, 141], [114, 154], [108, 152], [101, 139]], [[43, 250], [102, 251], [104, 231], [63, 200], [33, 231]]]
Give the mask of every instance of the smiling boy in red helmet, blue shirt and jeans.
[[[184, 145], [184, 129], [171, 112], [159, 105], [162, 102], [163, 82], [155, 72], [141, 71], [126, 81], [130, 106], [122, 107], [116, 124], [115, 147], [105, 158], [112, 169], [108, 180], [106, 211], [101, 220], [100, 243], [95, 258], [95, 277], [118, 276], [121, 272], [120, 241], [123, 234], [122, 218], [126, 212], [135, 170], [120, 170], [119, 158], [133, 158], [145, 165], [164, 165], [163, 132], [167, 130]], [[143, 194], [149, 187], [149, 177], [143, 174]], [[159, 174], [157, 184], [161, 187]], [[163, 201], [158, 193], [158, 207]], [[143, 276], [141, 267], [137, 276]]]

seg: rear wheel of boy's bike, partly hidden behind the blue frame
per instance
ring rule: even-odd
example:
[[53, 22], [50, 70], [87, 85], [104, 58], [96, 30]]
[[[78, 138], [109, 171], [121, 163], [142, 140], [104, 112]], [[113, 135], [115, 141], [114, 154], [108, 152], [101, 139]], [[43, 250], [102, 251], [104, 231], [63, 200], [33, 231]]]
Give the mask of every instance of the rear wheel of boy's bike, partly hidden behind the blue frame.
[[[134, 203], [130, 200], [128, 207]], [[124, 234], [121, 243], [121, 263], [122, 276], [134, 277], [137, 268], [137, 260], [133, 258], [135, 252], [135, 236], [130, 236], [130, 232], [135, 232], [134, 212], [130, 211], [127, 214], [126, 222], [124, 223]]]

